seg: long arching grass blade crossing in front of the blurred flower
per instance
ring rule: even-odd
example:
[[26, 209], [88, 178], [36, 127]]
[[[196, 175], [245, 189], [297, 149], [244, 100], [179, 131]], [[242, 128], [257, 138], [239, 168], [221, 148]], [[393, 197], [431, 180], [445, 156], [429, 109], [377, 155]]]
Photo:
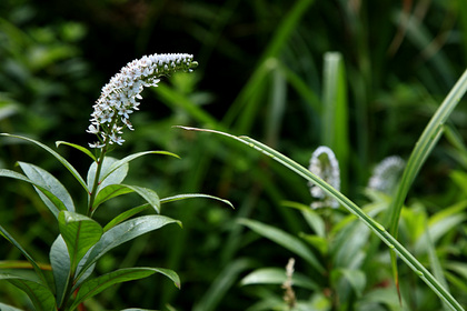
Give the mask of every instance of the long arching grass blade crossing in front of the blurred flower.
[[[467, 78], [467, 74], [466, 74]], [[202, 130], [202, 129], [195, 129], [195, 128], [187, 128], [180, 127], [186, 130], [195, 130], [195, 131], [206, 131], [211, 133], [217, 133], [220, 136], [228, 137], [230, 139], [235, 139], [254, 148], [264, 154], [270, 157], [271, 159], [276, 160], [277, 162], [281, 163], [289, 170], [296, 172], [297, 174], [301, 175], [308, 181], [314, 182], [317, 184], [322, 191], [325, 191], [328, 195], [331, 195], [336, 200], [340, 202], [340, 204], [350, 213], [355, 214], [360, 221], [362, 221], [376, 235], [381, 239], [393, 251], [395, 251], [404, 262], [444, 301], [449, 305], [453, 310], [464, 310], [464, 308], [457, 302], [457, 300], [436, 280], [436, 278], [406, 249], [403, 244], [400, 244], [388, 231], [386, 231], [385, 227], [375, 221], [372, 218], [367, 215], [357, 204], [355, 204], [350, 199], [344, 195], [341, 192], [334, 189], [327, 182], [321, 180], [319, 177], [311, 173], [307, 168], [298, 164], [290, 158], [287, 158], [282, 153], [267, 147], [266, 144], [256, 141], [248, 137], [236, 137], [225, 132], [212, 131], [212, 130]]]

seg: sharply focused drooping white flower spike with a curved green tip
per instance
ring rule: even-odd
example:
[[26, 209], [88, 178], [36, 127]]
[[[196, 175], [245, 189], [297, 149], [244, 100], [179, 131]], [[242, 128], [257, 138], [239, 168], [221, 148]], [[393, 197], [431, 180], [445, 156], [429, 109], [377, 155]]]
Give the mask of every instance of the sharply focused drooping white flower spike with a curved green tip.
[[121, 130], [133, 130], [129, 114], [138, 110], [137, 100], [142, 99], [142, 89], [157, 87], [161, 76], [176, 71], [192, 71], [197, 66], [193, 56], [185, 53], [151, 54], [129, 62], [102, 88], [101, 96], [93, 106], [95, 111], [91, 113], [91, 124], [87, 132], [97, 134], [99, 141], [89, 143], [89, 147], [122, 144], [125, 140], [120, 137]]

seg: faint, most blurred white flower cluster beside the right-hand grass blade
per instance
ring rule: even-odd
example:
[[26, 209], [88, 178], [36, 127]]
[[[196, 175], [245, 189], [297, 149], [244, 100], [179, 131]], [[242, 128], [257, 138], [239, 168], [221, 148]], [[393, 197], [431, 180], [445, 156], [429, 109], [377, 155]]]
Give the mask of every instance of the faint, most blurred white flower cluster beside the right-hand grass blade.
[[391, 194], [406, 162], [398, 156], [391, 156], [379, 162], [372, 170], [368, 188]]

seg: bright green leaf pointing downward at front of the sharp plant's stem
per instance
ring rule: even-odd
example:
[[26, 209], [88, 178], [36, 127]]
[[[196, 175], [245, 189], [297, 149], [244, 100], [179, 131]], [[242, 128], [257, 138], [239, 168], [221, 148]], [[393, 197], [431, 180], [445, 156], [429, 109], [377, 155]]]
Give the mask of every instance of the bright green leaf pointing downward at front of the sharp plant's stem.
[[62, 211], [59, 214], [59, 229], [67, 243], [71, 269], [74, 270], [88, 250], [100, 240], [102, 228], [86, 215]]

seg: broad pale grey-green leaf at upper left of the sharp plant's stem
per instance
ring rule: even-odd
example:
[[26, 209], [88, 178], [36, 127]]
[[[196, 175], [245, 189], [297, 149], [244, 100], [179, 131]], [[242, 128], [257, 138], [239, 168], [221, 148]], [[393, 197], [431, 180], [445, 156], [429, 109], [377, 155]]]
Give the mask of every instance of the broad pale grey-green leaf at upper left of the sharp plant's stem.
[[[34, 182], [34, 184], [41, 184], [43, 189], [47, 189], [50, 193], [57, 197], [57, 199], [60, 200], [60, 202], [63, 203], [63, 205], [69, 211], [74, 211], [74, 204], [73, 200], [71, 199], [70, 193], [68, 193], [67, 189], [61, 184], [61, 182], [54, 178], [51, 173], [48, 171], [30, 163], [24, 162], [18, 162], [24, 174]], [[52, 202], [42, 193], [41, 190], [36, 188], [36, 191], [41, 197], [42, 201], [46, 203], [46, 205], [49, 209], [53, 209]]]

